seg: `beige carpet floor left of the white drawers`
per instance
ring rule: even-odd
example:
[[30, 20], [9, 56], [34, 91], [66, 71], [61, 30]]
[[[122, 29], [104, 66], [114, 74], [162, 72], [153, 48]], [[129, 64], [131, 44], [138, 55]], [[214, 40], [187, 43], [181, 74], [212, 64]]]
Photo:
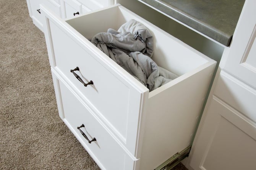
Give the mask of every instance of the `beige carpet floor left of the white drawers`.
[[99, 170], [58, 117], [44, 34], [25, 0], [0, 0], [0, 57], [0, 169]]

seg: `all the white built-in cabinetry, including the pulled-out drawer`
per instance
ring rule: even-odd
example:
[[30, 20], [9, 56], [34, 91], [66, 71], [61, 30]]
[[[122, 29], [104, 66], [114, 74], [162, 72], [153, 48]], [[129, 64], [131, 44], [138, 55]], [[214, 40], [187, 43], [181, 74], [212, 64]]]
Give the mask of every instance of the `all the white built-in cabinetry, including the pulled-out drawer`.
[[[99, 10], [114, 2], [27, 0], [34, 24], [45, 30], [60, 117], [100, 168], [153, 169], [190, 146], [215, 62], [122, 6]], [[246, 0], [232, 44], [225, 47], [186, 164], [191, 170], [256, 166], [255, 6]], [[154, 33], [156, 63], [180, 77], [149, 92], [88, 41], [131, 18]], [[70, 72], [76, 67], [84, 82], [94, 84], [85, 88], [76, 80]], [[88, 143], [77, 128], [82, 124], [96, 141]]]

